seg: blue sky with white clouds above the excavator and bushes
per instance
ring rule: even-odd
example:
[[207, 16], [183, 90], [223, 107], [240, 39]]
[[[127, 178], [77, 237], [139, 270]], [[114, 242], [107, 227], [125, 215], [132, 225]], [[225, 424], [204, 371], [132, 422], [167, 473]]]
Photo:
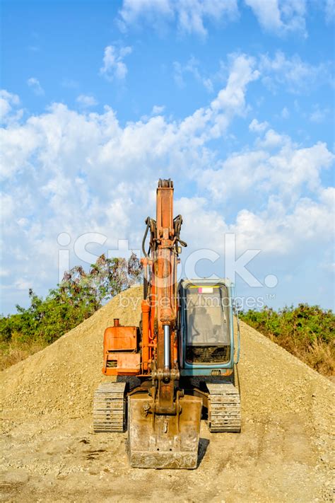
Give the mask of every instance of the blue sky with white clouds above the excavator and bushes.
[[159, 177], [183, 263], [208, 248], [196, 271], [224, 275], [233, 235], [260, 250], [240, 296], [334, 306], [334, 1], [3, 0], [1, 18], [1, 311], [54, 287], [79, 236], [139, 249]]

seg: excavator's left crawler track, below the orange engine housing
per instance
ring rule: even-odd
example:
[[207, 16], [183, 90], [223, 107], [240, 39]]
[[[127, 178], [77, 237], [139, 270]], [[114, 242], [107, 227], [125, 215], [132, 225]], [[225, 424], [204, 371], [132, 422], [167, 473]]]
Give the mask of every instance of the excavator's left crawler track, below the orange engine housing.
[[126, 383], [102, 383], [93, 398], [93, 430], [95, 433], [123, 432]]

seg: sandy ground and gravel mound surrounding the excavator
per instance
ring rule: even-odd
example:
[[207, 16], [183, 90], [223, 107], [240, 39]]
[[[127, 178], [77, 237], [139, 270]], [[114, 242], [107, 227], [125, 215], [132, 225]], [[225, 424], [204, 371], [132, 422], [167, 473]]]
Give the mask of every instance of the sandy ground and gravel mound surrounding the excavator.
[[137, 324], [140, 296], [130, 289], [1, 374], [0, 501], [333, 501], [334, 385], [244, 323], [242, 433], [201, 424], [196, 470], [131, 469], [127, 434], [93, 434], [103, 330], [114, 317]]

